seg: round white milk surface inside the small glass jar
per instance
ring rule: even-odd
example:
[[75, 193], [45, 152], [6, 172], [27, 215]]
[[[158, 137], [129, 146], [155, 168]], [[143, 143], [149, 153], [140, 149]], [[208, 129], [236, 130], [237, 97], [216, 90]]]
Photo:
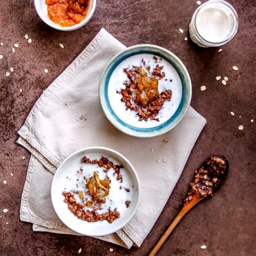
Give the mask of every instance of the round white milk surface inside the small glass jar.
[[233, 29], [233, 20], [221, 4], [209, 4], [202, 8], [196, 18], [198, 33], [209, 42], [222, 42]]

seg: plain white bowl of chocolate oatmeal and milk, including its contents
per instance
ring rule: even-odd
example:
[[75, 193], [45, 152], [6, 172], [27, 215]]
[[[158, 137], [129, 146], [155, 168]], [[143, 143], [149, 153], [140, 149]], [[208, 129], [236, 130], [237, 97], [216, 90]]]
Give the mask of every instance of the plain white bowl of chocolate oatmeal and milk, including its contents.
[[134, 216], [140, 183], [130, 161], [106, 147], [83, 148], [56, 170], [51, 199], [59, 219], [86, 236], [104, 236]]

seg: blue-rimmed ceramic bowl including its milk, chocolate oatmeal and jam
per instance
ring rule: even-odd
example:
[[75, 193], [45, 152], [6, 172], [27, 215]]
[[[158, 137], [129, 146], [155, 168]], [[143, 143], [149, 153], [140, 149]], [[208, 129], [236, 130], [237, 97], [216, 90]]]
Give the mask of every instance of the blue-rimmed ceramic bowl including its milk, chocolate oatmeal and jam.
[[191, 80], [182, 61], [154, 45], [137, 45], [115, 55], [99, 81], [99, 99], [109, 121], [135, 137], [172, 130], [191, 101]]

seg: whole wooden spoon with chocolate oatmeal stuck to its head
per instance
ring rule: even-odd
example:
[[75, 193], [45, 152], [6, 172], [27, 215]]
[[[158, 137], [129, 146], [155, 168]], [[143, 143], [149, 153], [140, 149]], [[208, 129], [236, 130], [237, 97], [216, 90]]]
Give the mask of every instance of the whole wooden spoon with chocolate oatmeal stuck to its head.
[[206, 197], [212, 196], [213, 192], [223, 183], [228, 172], [228, 161], [223, 156], [210, 156], [195, 172], [190, 189], [184, 200], [184, 205], [180, 212], [169, 225], [163, 236], [157, 242], [149, 256], [154, 256], [161, 248], [169, 234], [174, 230], [183, 216], [198, 202]]

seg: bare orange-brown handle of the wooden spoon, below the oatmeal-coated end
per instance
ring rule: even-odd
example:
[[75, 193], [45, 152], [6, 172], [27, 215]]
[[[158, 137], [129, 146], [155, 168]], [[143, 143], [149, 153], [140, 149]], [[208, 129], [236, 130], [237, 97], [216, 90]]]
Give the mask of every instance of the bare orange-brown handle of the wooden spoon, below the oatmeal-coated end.
[[153, 250], [148, 254], [148, 256], [155, 256], [165, 240], [168, 238], [169, 234], [174, 230], [174, 228], [178, 225], [180, 220], [184, 217], [184, 215], [199, 201], [201, 201], [202, 198], [193, 198], [191, 202], [184, 205], [178, 215], [175, 217], [174, 221], [169, 225], [169, 227], [164, 232], [163, 236], [159, 239]]

